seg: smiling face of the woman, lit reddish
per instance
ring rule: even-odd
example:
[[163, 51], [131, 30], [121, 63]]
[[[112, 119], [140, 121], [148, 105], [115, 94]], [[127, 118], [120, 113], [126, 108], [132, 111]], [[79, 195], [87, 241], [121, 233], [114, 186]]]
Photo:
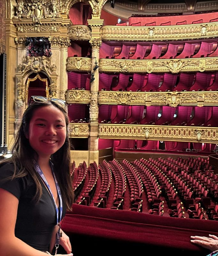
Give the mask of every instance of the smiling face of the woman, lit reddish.
[[64, 145], [66, 139], [64, 114], [53, 105], [36, 109], [30, 120], [26, 138], [39, 158], [50, 158]]

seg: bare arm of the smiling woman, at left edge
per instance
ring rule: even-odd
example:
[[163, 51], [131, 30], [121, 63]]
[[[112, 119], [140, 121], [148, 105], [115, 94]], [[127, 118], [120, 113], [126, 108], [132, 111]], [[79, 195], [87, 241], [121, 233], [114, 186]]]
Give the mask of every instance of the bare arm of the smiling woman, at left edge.
[[[7, 190], [0, 188], [0, 252], [1, 256], [45, 256], [14, 234], [19, 200]], [[58, 256], [60, 254], [57, 254]], [[65, 255], [71, 256], [71, 254]]]

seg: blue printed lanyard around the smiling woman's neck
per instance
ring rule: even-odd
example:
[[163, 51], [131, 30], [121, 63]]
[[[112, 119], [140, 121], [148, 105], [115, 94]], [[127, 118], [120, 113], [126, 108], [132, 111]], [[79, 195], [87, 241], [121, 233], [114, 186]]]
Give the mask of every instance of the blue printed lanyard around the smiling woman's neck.
[[57, 189], [57, 194], [58, 194], [58, 197], [59, 197], [59, 200], [60, 200], [60, 214], [59, 214], [59, 210], [58, 210], [58, 207], [56, 205], [56, 202], [55, 202], [55, 198], [52, 194], [52, 191], [51, 191], [51, 188], [49, 186], [49, 183], [48, 181], [46, 180], [45, 178], [45, 175], [43, 174], [40, 166], [35, 163], [34, 164], [34, 168], [36, 170], [36, 172], [39, 173], [41, 179], [45, 182], [50, 194], [51, 194], [51, 197], [55, 203], [55, 206], [56, 206], [56, 215], [57, 215], [57, 226], [58, 226], [58, 230], [57, 230], [57, 233], [56, 233], [56, 242], [55, 242], [55, 254], [57, 253], [57, 248], [59, 246], [59, 241], [60, 241], [60, 229], [61, 229], [61, 225], [60, 225], [60, 222], [61, 222], [61, 217], [62, 217], [62, 212], [63, 212], [63, 203], [62, 203], [62, 197], [61, 197], [61, 190], [59, 188], [59, 185], [58, 185], [58, 182], [57, 182], [57, 179], [56, 179], [56, 176], [55, 176], [55, 173], [54, 173], [54, 170], [53, 170], [53, 164], [50, 162], [50, 165], [51, 165], [51, 171], [52, 171], [52, 174], [53, 174], [53, 177], [54, 177], [54, 180], [55, 180], [55, 185], [56, 185], [56, 189]]

